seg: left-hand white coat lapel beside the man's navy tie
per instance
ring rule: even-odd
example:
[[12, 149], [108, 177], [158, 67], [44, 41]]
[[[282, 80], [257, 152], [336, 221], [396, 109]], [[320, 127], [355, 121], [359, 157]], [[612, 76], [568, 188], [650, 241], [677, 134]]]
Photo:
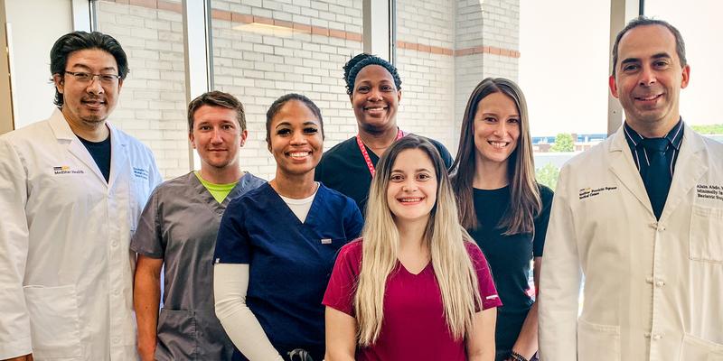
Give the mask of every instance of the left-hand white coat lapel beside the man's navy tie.
[[630, 146], [627, 144], [627, 141], [625, 141], [623, 128], [624, 126], [621, 125], [617, 132], [612, 135], [613, 139], [610, 143], [608, 153], [608, 157], [610, 157], [610, 171], [615, 174], [627, 190], [633, 193], [635, 198], [643, 204], [643, 207], [648, 208], [651, 215], [653, 215], [653, 208], [651, 208], [648, 193], [645, 191], [645, 185], [643, 184], [643, 179], [640, 177], [640, 172], [637, 167], [635, 167], [633, 153], [630, 152]]

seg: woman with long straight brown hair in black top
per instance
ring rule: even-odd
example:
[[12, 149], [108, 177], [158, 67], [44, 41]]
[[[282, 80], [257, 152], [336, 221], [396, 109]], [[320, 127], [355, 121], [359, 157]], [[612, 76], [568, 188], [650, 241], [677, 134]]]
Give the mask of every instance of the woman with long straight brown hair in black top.
[[[552, 190], [535, 180], [527, 105], [508, 79], [484, 79], [465, 109], [452, 180], [462, 225], [502, 298], [497, 361], [536, 359], [537, 290]], [[528, 282], [534, 260], [534, 289]]]

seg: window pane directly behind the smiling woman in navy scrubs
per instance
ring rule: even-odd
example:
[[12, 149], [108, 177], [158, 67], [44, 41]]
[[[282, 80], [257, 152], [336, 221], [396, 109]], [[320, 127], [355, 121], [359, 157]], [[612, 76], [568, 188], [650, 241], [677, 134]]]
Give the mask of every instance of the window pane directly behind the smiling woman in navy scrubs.
[[246, 106], [241, 167], [270, 179], [266, 111], [286, 93], [312, 99], [324, 117], [324, 148], [356, 134], [343, 64], [362, 51], [362, 1], [213, 0], [215, 88]]

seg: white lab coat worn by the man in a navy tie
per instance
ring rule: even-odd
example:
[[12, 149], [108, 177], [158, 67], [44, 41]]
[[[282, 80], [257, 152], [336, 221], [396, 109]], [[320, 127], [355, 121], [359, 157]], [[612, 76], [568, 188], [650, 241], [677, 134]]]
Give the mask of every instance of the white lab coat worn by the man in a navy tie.
[[546, 239], [542, 361], [723, 360], [723, 144], [685, 127], [657, 221], [621, 126], [563, 166]]

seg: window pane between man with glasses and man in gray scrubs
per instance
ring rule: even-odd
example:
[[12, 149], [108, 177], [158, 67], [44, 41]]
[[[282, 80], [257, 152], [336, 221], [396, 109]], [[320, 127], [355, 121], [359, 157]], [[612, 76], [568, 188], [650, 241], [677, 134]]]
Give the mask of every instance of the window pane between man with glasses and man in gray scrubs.
[[99, 31], [120, 42], [130, 68], [109, 120], [150, 146], [168, 179], [189, 170], [181, 0], [131, 3], [97, 3]]

